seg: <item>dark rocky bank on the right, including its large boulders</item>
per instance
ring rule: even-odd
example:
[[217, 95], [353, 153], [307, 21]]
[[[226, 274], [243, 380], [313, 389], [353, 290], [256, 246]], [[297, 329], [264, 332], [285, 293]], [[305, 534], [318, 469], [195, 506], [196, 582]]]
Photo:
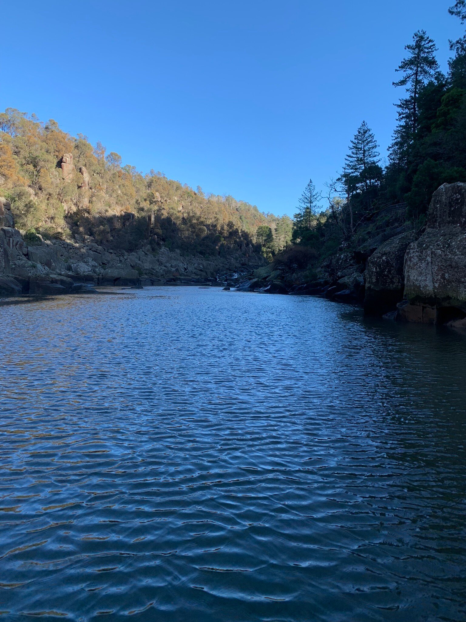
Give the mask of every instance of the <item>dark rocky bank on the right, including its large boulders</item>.
[[422, 234], [393, 233], [366, 249], [340, 248], [319, 266], [317, 279], [275, 262], [235, 289], [319, 295], [401, 322], [466, 327], [466, 183], [438, 188]]

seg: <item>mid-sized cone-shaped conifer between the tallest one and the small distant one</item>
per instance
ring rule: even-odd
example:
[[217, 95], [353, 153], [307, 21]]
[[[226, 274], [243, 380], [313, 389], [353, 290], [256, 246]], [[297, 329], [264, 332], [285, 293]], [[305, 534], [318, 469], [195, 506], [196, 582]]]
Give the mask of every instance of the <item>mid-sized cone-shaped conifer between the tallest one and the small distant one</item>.
[[345, 175], [351, 176], [368, 190], [375, 167], [380, 162], [378, 144], [368, 124], [363, 121], [350, 144], [350, 152], [345, 157]]

